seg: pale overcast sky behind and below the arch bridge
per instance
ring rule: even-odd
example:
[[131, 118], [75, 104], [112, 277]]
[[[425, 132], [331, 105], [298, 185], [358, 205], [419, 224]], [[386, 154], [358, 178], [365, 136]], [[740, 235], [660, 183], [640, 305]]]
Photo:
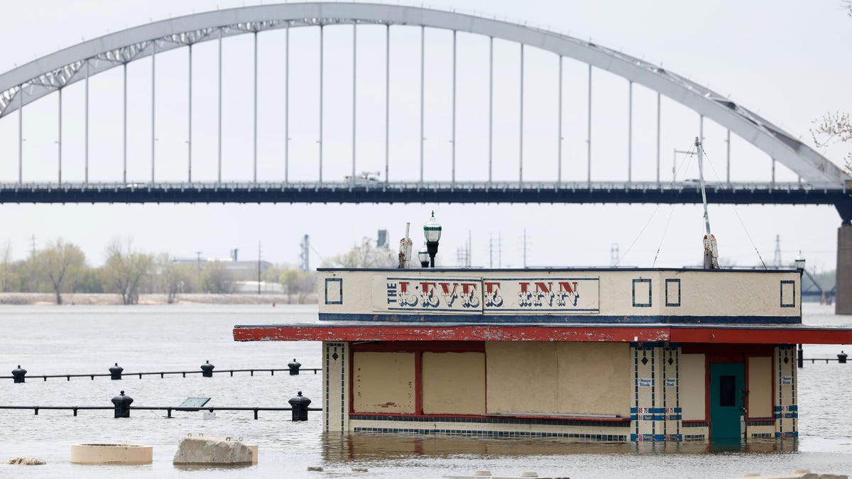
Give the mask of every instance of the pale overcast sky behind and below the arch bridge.
[[[43, 1], [7, 3], [0, 42], [5, 72], [85, 39], [151, 20], [255, 2]], [[426, 5], [429, 6], [429, 5]], [[485, 2], [434, 3], [436, 8], [476, 11], [516, 19], [528, 25], [567, 32], [665, 66], [760, 113], [812, 145], [812, 121], [826, 112], [852, 111], [852, 18], [837, 0], [817, 2]], [[383, 27], [359, 29], [358, 170], [383, 170]], [[291, 179], [315, 176], [316, 160], [316, 29], [294, 31], [291, 42]], [[417, 177], [419, 103], [419, 32], [399, 27], [392, 34], [391, 179]], [[325, 36], [325, 179], [343, 180], [351, 169], [351, 26], [328, 28]], [[458, 175], [481, 178], [486, 159], [487, 41], [459, 36]], [[259, 159], [262, 180], [279, 181], [281, 69], [283, 32], [261, 33], [259, 43]], [[452, 36], [427, 33], [426, 133], [427, 179], [449, 175]], [[250, 178], [251, 36], [226, 41], [223, 89], [223, 159], [227, 178]], [[14, 45], [14, 48], [10, 45]], [[216, 115], [215, 42], [193, 51], [193, 174], [215, 177]], [[525, 171], [538, 180], [556, 178], [556, 57], [527, 49], [525, 63]], [[517, 47], [495, 43], [495, 178], [516, 178]], [[550, 55], [550, 56], [549, 56]], [[186, 174], [186, 49], [157, 61], [158, 179], [181, 181]], [[584, 66], [565, 61], [563, 175], [584, 180], [586, 85]], [[150, 63], [129, 66], [131, 98], [129, 181], [150, 177]], [[120, 171], [120, 68], [91, 80], [92, 181], [111, 181]], [[598, 83], [600, 82], [600, 83]], [[81, 83], [82, 84], [82, 83]], [[411, 88], [411, 85], [415, 88]], [[596, 180], [626, 177], [627, 83], [595, 72], [593, 83], [592, 176]], [[82, 176], [82, 87], [69, 87], [63, 104], [63, 176]], [[653, 150], [655, 96], [634, 90], [634, 172], [636, 179], [655, 175]], [[25, 181], [55, 177], [56, 95], [25, 107]], [[117, 116], [118, 115], [118, 116]], [[697, 115], [664, 101], [662, 176], [671, 180], [673, 150], [688, 149], [698, 135]], [[666, 121], [668, 123], [666, 123]], [[17, 114], [0, 118], [0, 181], [16, 180]], [[713, 170], [724, 176], [724, 129], [705, 122], [705, 148]], [[813, 145], [812, 145], [813, 146]], [[845, 150], [820, 150], [837, 164]], [[249, 159], [247, 159], [249, 158]], [[676, 159], [676, 158], [675, 158]], [[682, 159], [680, 160], [682, 161]], [[732, 177], [769, 181], [770, 161], [745, 141], [732, 141]], [[692, 177], [694, 162], [680, 176]], [[715, 171], [715, 172], [714, 172]], [[779, 181], [795, 176], [779, 165]], [[118, 173], [120, 181], [120, 173]], [[630, 266], [680, 267], [701, 258], [703, 222], [698, 205], [0, 205], [0, 241], [9, 241], [15, 257], [25, 257], [35, 236], [36, 247], [62, 237], [81, 245], [89, 263], [100, 264], [113, 237], [132, 238], [145, 251], [168, 251], [177, 257], [227, 257], [237, 247], [241, 259], [262, 255], [274, 263], [297, 263], [298, 244], [309, 234], [314, 247], [311, 266], [333, 257], [363, 237], [388, 228], [394, 246], [412, 222], [419, 245], [429, 211], [444, 227], [439, 263], [456, 264], [457, 248], [470, 237], [475, 266], [489, 266], [489, 244], [502, 242], [501, 265], [608, 266], [613, 245]], [[840, 219], [832, 206], [711, 205], [711, 224], [720, 256], [740, 266], [774, 259], [780, 235], [785, 263], [802, 251], [809, 268], [835, 266], [836, 229]], [[490, 240], [492, 239], [492, 240]], [[417, 248], [415, 248], [417, 249]], [[659, 250], [659, 254], [658, 254]], [[626, 253], [626, 254], [625, 254]], [[655, 260], [656, 257], [656, 260]], [[493, 265], [496, 267], [495, 255]]]

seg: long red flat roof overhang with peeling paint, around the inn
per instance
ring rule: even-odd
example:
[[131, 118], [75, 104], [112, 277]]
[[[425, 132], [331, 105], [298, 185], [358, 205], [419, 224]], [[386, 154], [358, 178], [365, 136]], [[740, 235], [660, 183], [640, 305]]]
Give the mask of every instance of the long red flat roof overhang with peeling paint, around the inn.
[[442, 323], [237, 325], [235, 341], [572, 341], [583, 343], [852, 344], [852, 327]]

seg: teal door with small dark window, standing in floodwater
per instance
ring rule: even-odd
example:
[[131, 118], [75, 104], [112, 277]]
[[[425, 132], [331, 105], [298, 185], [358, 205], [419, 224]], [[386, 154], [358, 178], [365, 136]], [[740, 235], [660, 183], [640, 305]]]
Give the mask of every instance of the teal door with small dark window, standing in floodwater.
[[710, 365], [710, 438], [712, 441], [740, 439], [746, 367], [742, 363]]

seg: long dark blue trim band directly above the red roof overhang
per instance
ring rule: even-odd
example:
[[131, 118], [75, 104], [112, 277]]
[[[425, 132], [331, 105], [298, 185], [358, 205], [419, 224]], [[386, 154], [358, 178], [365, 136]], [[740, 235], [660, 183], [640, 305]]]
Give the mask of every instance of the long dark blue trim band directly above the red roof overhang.
[[[471, 315], [471, 314], [411, 314], [388, 313], [320, 313], [320, 321], [365, 321], [388, 323], [454, 323], [459, 324], [668, 324], [668, 325], [780, 325], [802, 324], [802, 316], [666, 316], [666, 315]], [[383, 325], [393, 326], [393, 325]], [[642, 343], [644, 344], [644, 343]]]

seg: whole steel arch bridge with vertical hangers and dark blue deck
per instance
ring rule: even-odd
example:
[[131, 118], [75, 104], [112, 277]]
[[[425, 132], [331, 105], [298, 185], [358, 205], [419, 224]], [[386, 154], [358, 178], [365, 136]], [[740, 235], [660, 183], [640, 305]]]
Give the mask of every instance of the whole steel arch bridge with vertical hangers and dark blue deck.
[[[425, 182], [423, 180], [423, 36], [421, 37], [421, 84], [420, 84], [420, 159], [419, 181], [390, 182], [388, 169], [388, 89], [385, 84], [385, 173], [383, 182], [359, 182], [356, 176], [354, 156], [355, 120], [354, 120], [354, 78], [353, 78], [353, 159], [352, 176], [345, 182], [324, 181], [322, 176], [322, 86], [320, 86], [320, 174], [314, 181], [293, 182], [286, 174], [283, 182], [258, 181], [257, 158], [257, 87], [255, 72], [255, 124], [254, 124], [254, 178], [251, 182], [229, 182], [222, 179], [222, 38], [245, 33], [257, 33], [267, 30], [285, 29], [288, 35], [287, 58], [289, 61], [289, 31], [302, 26], [320, 26], [320, 45], [322, 27], [332, 25], [353, 25], [354, 32], [359, 25], [387, 26], [389, 49], [390, 26], [419, 26], [444, 29], [453, 32], [452, 60], [452, 179], [448, 182]], [[521, 46], [521, 107], [520, 142], [518, 176], [516, 181], [492, 181], [492, 165], [489, 152], [488, 178], [476, 182], [456, 180], [456, 43], [455, 32], [467, 32], [489, 38], [491, 52], [493, 40], [500, 39]], [[423, 34], [423, 33], [422, 33]], [[353, 41], [355, 41], [355, 35]], [[153, 95], [155, 82], [152, 81], [152, 156], [150, 182], [128, 183], [126, 157], [126, 66], [132, 61], [152, 57], [152, 78], [156, 55], [171, 49], [188, 47], [190, 51], [190, 72], [192, 65], [192, 46], [196, 43], [218, 41], [219, 43], [219, 150], [218, 176], [216, 182], [198, 182], [192, 178], [192, 110], [189, 113], [189, 153], [187, 155], [187, 179], [181, 182], [157, 182], [156, 153], [154, 143]], [[573, 59], [588, 65], [589, 85], [591, 89], [592, 69], [611, 72], [630, 83], [630, 111], [632, 111], [632, 85], [640, 84], [657, 95], [657, 178], [651, 182], [593, 182], [592, 141], [591, 141], [591, 95], [589, 96], [589, 129], [587, 138], [588, 179], [586, 182], [563, 182], [561, 172], [561, 137], [559, 141], [559, 170], [556, 178], [550, 182], [530, 182], [524, 180], [523, 158], [523, 48], [525, 46], [542, 49], [557, 55], [560, 61], [559, 84], [559, 135], [562, 119], [562, 59]], [[255, 43], [256, 48], [256, 43]], [[320, 85], [322, 85], [322, 48], [320, 46]], [[355, 64], [353, 54], [353, 64]], [[289, 65], [289, 64], [288, 64]], [[124, 106], [124, 177], [114, 182], [89, 182], [89, 78], [117, 66], [125, 67], [125, 106]], [[255, 50], [256, 68], [256, 50]], [[386, 75], [389, 61], [386, 63]], [[287, 75], [289, 78], [289, 66]], [[489, 72], [493, 75], [493, 67]], [[190, 73], [190, 97], [192, 95], [192, 73]], [[388, 77], [386, 77], [388, 78]], [[492, 81], [492, 78], [489, 78]], [[58, 92], [68, 85], [84, 82], [86, 85], [86, 157], [83, 182], [63, 182], [61, 177], [61, 147], [59, 167], [55, 182], [24, 182], [22, 148], [22, 111], [32, 101]], [[286, 87], [285, 87], [286, 88]], [[489, 90], [489, 101], [492, 91]], [[711, 183], [709, 199], [720, 203], [771, 203], [771, 204], [833, 204], [838, 207], [844, 221], [852, 218], [852, 204], [849, 200], [849, 176], [820, 153], [795, 139], [794, 136], [761, 118], [756, 113], [729, 101], [711, 89], [668, 72], [647, 61], [630, 55], [607, 49], [595, 43], [573, 38], [556, 32], [548, 32], [530, 26], [517, 25], [506, 21], [492, 20], [470, 14], [435, 9], [423, 9], [398, 5], [373, 3], [299, 3], [244, 7], [239, 9], [217, 10], [192, 14], [170, 20], [136, 26], [122, 32], [95, 38], [45, 55], [26, 65], [14, 68], [0, 75], [0, 118], [14, 112], [19, 116], [18, 141], [18, 179], [17, 182], [0, 184], [0, 202], [573, 202], [573, 203], [690, 203], [700, 202], [700, 194], [694, 184], [666, 184], [659, 178], [659, 99], [670, 98], [698, 113], [702, 120], [709, 118], [731, 132], [740, 136], [769, 155], [773, 161], [785, 165], [799, 176], [798, 182], [751, 182], [736, 183], [727, 181]], [[289, 98], [287, 108], [289, 109]], [[190, 99], [191, 105], [191, 99]], [[491, 103], [489, 103], [491, 105]], [[489, 112], [489, 142], [492, 144], [492, 113]], [[285, 125], [289, 125], [291, 113], [285, 113]], [[60, 113], [61, 143], [61, 113]], [[629, 129], [632, 131], [632, 116]], [[289, 137], [285, 126], [285, 164], [289, 161], [287, 148]], [[703, 133], [703, 132], [702, 132]], [[632, 135], [632, 133], [631, 133]], [[702, 135], [703, 136], [703, 135]], [[631, 156], [632, 153], [629, 153]], [[728, 156], [728, 164], [729, 164]], [[630, 166], [629, 166], [630, 168]], [[728, 167], [729, 168], [729, 167]]]

